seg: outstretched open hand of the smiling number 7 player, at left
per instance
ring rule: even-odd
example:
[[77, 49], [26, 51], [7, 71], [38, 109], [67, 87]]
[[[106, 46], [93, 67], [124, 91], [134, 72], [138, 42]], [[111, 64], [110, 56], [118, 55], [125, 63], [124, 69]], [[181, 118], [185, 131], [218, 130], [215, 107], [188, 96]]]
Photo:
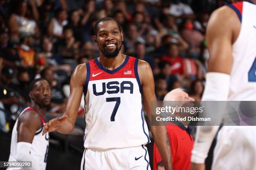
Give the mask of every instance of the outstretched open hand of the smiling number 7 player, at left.
[[62, 117], [56, 117], [50, 120], [44, 125], [44, 130], [42, 135], [44, 135], [46, 132], [53, 132], [57, 130], [66, 119], [67, 119], [67, 116], [62, 116]]

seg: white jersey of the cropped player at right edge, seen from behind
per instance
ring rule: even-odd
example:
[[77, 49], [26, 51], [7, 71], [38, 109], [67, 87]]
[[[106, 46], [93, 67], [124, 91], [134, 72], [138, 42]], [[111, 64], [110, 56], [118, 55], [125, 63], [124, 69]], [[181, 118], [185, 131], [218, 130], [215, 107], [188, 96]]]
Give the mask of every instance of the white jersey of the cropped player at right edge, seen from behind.
[[228, 6], [241, 21], [241, 31], [232, 48], [228, 100], [256, 100], [256, 5], [236, 2]]

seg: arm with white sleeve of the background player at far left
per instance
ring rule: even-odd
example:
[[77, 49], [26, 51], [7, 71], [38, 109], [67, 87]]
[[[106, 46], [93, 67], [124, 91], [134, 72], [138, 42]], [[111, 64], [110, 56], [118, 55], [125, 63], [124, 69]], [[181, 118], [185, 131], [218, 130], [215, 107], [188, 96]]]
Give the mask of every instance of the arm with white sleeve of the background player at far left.
[[[33, 120], [33, 121], [31, 121]], [[30, 154], [32, 141], [36, 130], [41, 128], [40, 116], [33, 110], [24, 112], [18, 119], [17, 125], [17, 150], [15, 159], [17, 161], [32, 161], [32, 168], [25, 170], [39, 170], [40, 166]]]

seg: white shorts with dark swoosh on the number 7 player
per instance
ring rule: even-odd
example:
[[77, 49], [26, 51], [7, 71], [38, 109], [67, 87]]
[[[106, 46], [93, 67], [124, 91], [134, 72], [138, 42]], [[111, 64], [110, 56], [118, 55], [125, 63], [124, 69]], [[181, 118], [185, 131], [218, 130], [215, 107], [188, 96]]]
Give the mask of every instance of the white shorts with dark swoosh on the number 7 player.
[[141, 145], [132, 148], [102, 150], [85, 148], [81, 170], [151, 170], [148, 150]]

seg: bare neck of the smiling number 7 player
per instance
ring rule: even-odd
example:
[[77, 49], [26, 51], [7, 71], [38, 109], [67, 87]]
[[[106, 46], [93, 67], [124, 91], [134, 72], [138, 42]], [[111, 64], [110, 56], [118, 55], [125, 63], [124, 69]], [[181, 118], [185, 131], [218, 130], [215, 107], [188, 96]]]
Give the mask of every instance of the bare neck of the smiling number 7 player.
[[100, 62], [100, 64], [107, 68], [108, 70], [115, 70], [116, 68], [118, 68], [120, 65], [123, 64], [125, 60], [125, 55], [123, 55], [121, 52], [118, 53], [118, 56], [115, 58], [107, 58], [103, 55], [100, 55], [100, 57], [98, 58], [98, 61]]

